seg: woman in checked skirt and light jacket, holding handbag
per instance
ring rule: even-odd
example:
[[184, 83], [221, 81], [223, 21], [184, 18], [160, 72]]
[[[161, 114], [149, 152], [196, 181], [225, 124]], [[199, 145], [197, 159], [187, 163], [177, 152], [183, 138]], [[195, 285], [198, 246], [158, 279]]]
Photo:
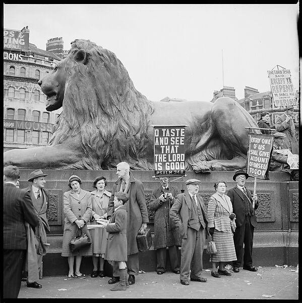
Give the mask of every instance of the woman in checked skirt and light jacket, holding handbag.
[[225, 270], [224, 263], [237, 260], [232, 233], [236, 225], [230, 198], [225, 194], [225, 181], [216, 182], [214, 188], [216, 192], [210, 197], [208, 204], [208, 228], [217, 252], [211, 255], [210, 262], [211, 275], [220, 278], [220, 275], [231, 276]]

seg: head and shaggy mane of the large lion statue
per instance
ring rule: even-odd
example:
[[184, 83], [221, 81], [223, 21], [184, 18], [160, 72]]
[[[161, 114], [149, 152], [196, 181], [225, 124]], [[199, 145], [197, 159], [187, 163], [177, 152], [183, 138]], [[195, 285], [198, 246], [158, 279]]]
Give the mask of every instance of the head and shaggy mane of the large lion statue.
[[46, 110], [63, 106], [49, 144], [80, 137], [87, 159], [79, 168], [109, 169], [144, 158], [153, 106], [115, 54], [89, 40], [75, 40], [68, 57], [39, 85], [47, 96]]

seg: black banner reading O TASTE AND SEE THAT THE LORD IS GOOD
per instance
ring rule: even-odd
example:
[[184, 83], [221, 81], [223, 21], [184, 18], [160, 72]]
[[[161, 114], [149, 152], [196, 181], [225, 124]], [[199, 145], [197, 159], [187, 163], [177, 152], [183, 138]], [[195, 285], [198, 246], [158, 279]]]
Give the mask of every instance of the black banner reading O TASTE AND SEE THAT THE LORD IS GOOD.
[[154, 175], [184, 176], [186, 126], [154, 127]]

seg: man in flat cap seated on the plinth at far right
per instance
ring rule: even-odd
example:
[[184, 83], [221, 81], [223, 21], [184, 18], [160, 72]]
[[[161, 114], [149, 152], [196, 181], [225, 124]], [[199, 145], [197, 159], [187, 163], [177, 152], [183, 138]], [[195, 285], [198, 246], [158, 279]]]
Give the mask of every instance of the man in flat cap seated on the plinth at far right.
[[281, 132], [276, 132], [274, 134], [274, 143], [269, 170], [272, 172], [287, 172], [290, 174], [292, 181], [298, 181], [299, 171], [297, 169], [290, 169], [290, 166], [287, 163], [288, 156], [278, 153], [278, 150], [285, 149], [285, 137], [285, 134]]

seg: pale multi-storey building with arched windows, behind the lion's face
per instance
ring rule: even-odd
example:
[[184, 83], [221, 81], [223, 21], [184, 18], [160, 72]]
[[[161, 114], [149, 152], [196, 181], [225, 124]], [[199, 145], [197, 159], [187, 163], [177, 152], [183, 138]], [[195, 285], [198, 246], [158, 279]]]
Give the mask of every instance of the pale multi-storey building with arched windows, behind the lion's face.
[[4, 151], [48, 143], [62, 109], [45, 110], [38, 81], [62, 58], [30, 43], [28, 27], [4, 29]]

